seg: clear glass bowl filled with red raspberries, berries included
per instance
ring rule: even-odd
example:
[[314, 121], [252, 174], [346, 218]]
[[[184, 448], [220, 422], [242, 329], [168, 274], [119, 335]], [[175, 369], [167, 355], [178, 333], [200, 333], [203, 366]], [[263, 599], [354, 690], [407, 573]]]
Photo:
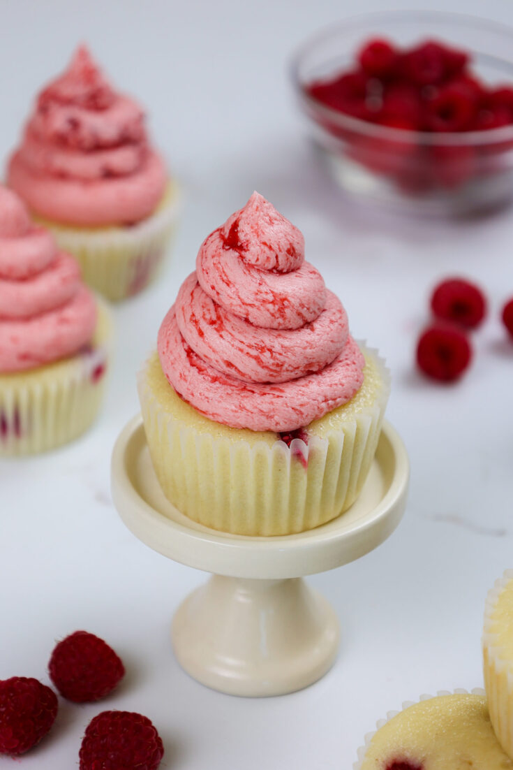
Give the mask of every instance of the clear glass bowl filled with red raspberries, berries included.
[[466, 215], [513, 197], [513, 29], [442, 12], [332, 25], [292, 80], [341, 187], [418, 213]]

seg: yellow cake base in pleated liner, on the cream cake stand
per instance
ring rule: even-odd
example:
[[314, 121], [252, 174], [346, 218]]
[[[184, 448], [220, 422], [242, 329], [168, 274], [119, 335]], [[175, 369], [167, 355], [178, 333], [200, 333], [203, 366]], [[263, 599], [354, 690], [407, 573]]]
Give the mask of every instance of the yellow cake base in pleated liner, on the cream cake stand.
[[384, 362], [365, 355], [365, 382], [351, 402], [311, 423], [308, 444], [294, 439], [288, 447], [271, 431], [203, 417], [178, 397], [154, 353], [138, 390], [165, 496], [193, 521], [232, 534], [293, 534], [337, 517], [365, 482], [388, 400]]

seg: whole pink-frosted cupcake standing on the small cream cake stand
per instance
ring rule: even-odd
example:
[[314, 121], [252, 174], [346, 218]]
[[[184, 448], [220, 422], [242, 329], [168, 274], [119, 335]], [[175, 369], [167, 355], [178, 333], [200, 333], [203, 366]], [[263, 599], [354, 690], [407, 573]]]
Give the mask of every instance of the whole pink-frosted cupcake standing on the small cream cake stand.
[[324, 524], [358, 497], [375, 454], [388, 372], [304, 246], [255, 192], [202, 243], [138, 378], [165, 496], [216, 530]]

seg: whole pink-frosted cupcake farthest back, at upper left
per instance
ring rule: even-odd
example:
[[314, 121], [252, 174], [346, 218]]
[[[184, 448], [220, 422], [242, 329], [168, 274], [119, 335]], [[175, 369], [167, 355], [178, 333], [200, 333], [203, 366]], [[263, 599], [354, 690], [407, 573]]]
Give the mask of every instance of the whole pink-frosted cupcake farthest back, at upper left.
[[38, 95], [7, 179], [109, 300], [155, 276], [177, 188], [148, 142], [141, 107], [115, 92], [84, 46]]

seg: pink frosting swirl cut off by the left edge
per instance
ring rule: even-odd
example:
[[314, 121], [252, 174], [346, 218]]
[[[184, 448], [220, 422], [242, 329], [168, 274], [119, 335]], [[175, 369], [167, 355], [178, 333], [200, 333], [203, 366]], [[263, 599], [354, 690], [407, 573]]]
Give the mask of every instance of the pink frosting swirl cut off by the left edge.
[[0, 372], [76, 353], [92, 340], [96, 314], [75, 259], [59, 252], [14, 192], [0, 186]]

